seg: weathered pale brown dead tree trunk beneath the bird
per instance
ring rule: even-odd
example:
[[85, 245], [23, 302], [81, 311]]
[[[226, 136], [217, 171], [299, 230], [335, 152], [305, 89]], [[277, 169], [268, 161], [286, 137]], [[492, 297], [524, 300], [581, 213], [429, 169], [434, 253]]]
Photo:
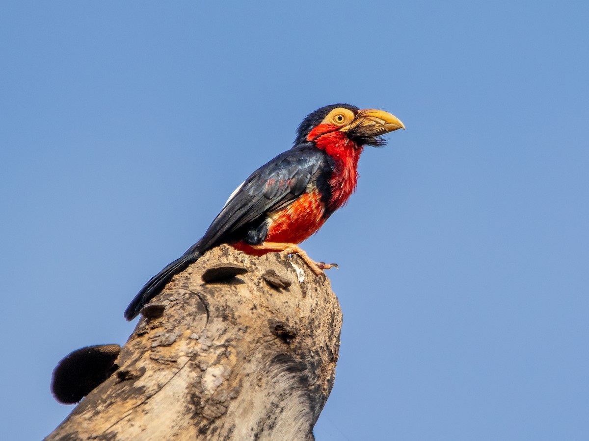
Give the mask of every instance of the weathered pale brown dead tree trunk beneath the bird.
[[[222, 263], [247, 273], [203, 282]], [[277, 275], [270, 282], [269, 271]], [[47, 440], [313, 439], [342, 325], [329, 280], [297, 256], [221, 246], [153, 303], [163, 314], [140, 318], [117, 372]]]

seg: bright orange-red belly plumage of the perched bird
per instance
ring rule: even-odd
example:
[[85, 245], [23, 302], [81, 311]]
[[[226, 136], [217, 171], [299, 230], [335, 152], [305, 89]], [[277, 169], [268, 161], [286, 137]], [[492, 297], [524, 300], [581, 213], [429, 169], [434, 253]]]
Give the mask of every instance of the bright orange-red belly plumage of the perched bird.
[[[268, 228], [266, 242], [303, 242], [325, 223], [326, 219], [323, 218], [323, 211], [319, 191], [314, 190], [305, 193], [296, 202], [270, 215], [272, 222]], [[266, 250], [254, 250], [242, 242], [231, 245], [253, 255], [263, 255], [269, 252]]]

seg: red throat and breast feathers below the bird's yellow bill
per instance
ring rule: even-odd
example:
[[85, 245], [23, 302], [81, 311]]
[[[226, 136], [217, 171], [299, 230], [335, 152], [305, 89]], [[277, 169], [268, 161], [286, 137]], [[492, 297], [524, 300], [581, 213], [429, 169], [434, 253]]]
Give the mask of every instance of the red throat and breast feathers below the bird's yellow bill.
[[317, 148], [325, 150], [335, 160], [335, 169], [329, 181], [332, 197], [327, 207], [329, 211], [335, 211], [348, 202], [356, 190], [362, 146], [349, 139], [346, 133], [337, 130], [336, 126], [327, 124], [317, 126], [307, 139], [315, 141]]

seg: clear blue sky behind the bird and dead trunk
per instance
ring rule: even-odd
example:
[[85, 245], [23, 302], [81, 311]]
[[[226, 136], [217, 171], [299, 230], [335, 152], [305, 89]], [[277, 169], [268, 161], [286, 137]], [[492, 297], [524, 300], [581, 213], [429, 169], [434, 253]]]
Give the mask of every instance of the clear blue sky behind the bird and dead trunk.
[[380, 108], [358, 191], [303, 244], [344, 315], [333, 440], [589, 439], [587, 2], [0, 5], [6, 439], [51, 371], [309, 112]]

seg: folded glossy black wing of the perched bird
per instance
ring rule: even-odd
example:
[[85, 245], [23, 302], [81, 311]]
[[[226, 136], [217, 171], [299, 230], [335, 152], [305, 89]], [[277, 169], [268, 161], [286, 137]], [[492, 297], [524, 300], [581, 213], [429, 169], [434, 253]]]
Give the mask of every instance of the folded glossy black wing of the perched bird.
[[323, 182], [327, 183], [332, 170], [333, 160], [315, 146], [281, 153], [246, 179], [190, 250], [202, 253], [229, 239], [241, 239], [234, 235], [259, 225], [267, 213], [285, 208], [309, 188], [326, 186]]

